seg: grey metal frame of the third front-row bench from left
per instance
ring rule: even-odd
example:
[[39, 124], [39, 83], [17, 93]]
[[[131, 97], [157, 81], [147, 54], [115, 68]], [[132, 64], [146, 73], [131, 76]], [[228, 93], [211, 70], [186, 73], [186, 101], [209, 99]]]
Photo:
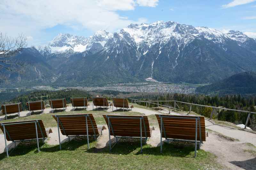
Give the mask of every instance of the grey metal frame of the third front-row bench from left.
[[[140, 153], [142, 153], [142, 138], [145, 139], [145, 143], [147, 143], [148, 137], [147, 137], [147, 132], [146, 132], [146, 125], [145, 125], [145, 121], [144, 121], [144, 117], [117, 117], [117, 116], [108, 116], [106, 115], [106, 117], [108, 118], [108, 137], [109, 137], [109, 151], [111, 152], [112, 148], [117, 144], [118, 142], [118, 137], [119, 138], [140, 138]], [[112, 128], [112, 124], [109, 118], [120, 118], [120, 119], [140, 119], [140, 137], [122, 137], [122, 136], [115, 136], [114, 134], [114, 130]], [[143, 126], [144, 126], [144, 131], [145, 131], [145, 136], [146, 137], [142, 137], [142, 122], [143, 122]], [[111, 127], [111, 131], [114, 137], [116, 137], [116, 143], [111, 147], [111, 138], [110, 138], [110, 127]]]

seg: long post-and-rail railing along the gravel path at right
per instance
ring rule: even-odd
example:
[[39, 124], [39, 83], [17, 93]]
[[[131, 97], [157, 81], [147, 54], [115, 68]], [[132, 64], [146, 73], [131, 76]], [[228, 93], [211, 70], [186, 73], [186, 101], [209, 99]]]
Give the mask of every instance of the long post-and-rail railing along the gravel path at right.
[[[207, 105], [200, 105], [200, 104], [195, 104], [195, 103], [188, 103], [188, 102], [183, 102], [183, 101], [177, 101], [177, 100], [147, 100], [147, 101], [143, 101], [143, 100], [138, 100], [138, 99], [132, 99], [132, 98], [129, 98], [130, 100], [132, 100], [132, 102], [135, 100], [135, 102], [146, 102], [146, 107], [148, 108], [148, 104], [155, 104], [157, 105], [158, 107], [159, 106], [162, 106], [162, 107], [167, 107], [169, 108], [169, 114], [170, 114], [170, 111], [171, 111], [171, 108], [172, 109], [176, 109], [176, 110], [180, 110], [180, 111], [183, 111], [180, 109], [179, 105], [177, 103], [182, 103], [182, 104], [187, 104], [189, 105], [189, 113], [191, 112], [191, 109], [192, 109], [192, 105], [193, 106], [200, 106], [200, 107], [211, 107], [212, 108], [212, 113], [211, 113], [211, 116], [209, 118], [209, 120], [212, 119], [212, 116], [213, 116], [213, 113], [215, 110], [229, 110], [229, 111], [235, 111], [235, 112], [243, 112], [243, 113], [248, 113], [248, 116], [247, 116], [247, 119], [246, 119], [246, 122], [245, 122], [245, 125], [244, 125], [244, 129], [246, 129], [247, 127], [247, 124], [249, 122], [249, 119], [250, 119], [250, 116], [251, 114], [256, 114], [256, 112], [250, 112], [250, 111], [245, 111], [245, 110], [236, 110], [236, 109], [229, 109], [229, 108], [224, 108], [224, 107], [215, 107], [215, 106], [207, 106]], [[157, 102], [157, 103], [153, 103], [153, 102]], [[174, 102], [174, 107], [171, 107], [171, 106], [166, 106], [166, 105], [161, 105], [159, 104], [159, 102]], [[176, 106], [178, 108], [176, 108]], [[189, 114], [188, 113], [188, 114]]]

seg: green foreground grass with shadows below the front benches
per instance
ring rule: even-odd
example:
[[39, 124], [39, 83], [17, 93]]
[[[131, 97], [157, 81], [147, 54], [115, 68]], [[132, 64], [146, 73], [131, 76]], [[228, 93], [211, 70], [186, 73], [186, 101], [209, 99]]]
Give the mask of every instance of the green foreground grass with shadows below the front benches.
[[176, 148], [164, 144], [163, 153], [159, 147], [121, 142], [110, 153], [107, 148], [95, 148], [96, 142], [90, 141], [87, 149], [86, 140], [72, 140], [59, 145], [44, 144], [41, 152], [36, 145], [19, 145], [10, 157], [0, 154], [1, 169], [221, 169], [216, 157], [210, 152], [197, 151], [194, 147]]

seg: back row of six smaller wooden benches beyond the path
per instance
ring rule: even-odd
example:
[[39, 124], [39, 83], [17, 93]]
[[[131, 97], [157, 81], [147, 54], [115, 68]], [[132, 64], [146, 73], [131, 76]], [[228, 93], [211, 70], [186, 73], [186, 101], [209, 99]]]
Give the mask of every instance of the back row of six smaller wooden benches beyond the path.
[[[88, 101], [86, 97], [83, 98], [70, 98], [72, 107], [88, 107]], [[96, 107], [109, 107], [108, 104], [108, 99], [106, 97], [92, 97], [93, 101], [93, 106]], [[49, 100], [49, 104], [53, 109], [59, 109], [63, 108], [63, 111], [67, 108], [67, 101], [66, 99], [54, 99], [54, 100]], [[128, 110], [129, 105], [128, 105], [128, 100], [126, 98], [113, 98], [113, 105], [116, 108], [126, 108]], [[44, 101], [31, 101], [27, 102], [27, 107], [29, 110], [29, 114], [31, 115], [31, 112], [36, 111], [36, 110], [41, 110], [41, 113], [43, 114], [43, 111], [45, 109]], [[2, 105], [2, 111], [6, 116], [7, 119], [7, 114], [12, 114], [12, 113], [18, 113], [20, 117], [20, 111], [21, 111], [21, 103], [14, 103], [14, 104], [6, 104]]]

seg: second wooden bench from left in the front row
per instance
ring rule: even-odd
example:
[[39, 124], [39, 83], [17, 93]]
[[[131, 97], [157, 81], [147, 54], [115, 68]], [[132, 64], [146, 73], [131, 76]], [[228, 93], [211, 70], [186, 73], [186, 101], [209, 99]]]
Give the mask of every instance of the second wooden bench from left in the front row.
[[89, 135], [96, 137], [100, 136], [102, 129], [106, 129], [104, 126], [98, 126], [94, 120], [92, 114], [78, 114], [78, 115], [52, 115], [56, 120], [59, 134], [60, 143], [60, 131], [62, 135], [69, 136], [87, 136], [87, 144], [89, 149]]

